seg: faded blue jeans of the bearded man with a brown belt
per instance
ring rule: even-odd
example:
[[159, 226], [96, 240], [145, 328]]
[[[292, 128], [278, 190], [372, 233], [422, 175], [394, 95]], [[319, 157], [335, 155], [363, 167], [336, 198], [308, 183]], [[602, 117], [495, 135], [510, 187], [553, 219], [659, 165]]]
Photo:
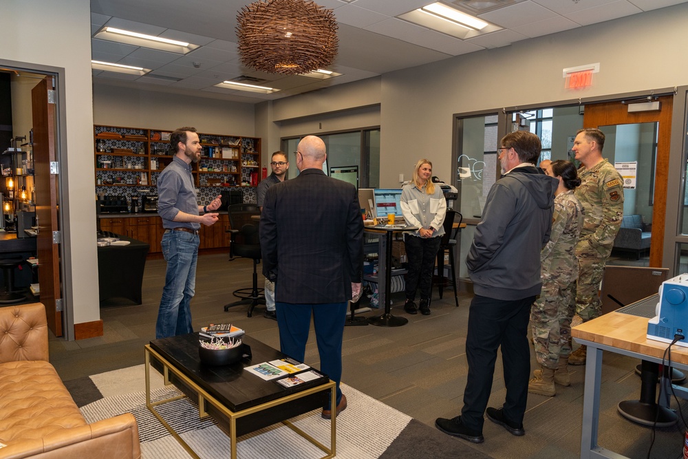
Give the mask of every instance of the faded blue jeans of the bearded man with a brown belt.
[[162, 235], [162, 255], [167, 261], [155, 338], [173, 337], [193, 332], [191, 298], [196, 285], [198, 235], [184, 231], [166, 231]]

